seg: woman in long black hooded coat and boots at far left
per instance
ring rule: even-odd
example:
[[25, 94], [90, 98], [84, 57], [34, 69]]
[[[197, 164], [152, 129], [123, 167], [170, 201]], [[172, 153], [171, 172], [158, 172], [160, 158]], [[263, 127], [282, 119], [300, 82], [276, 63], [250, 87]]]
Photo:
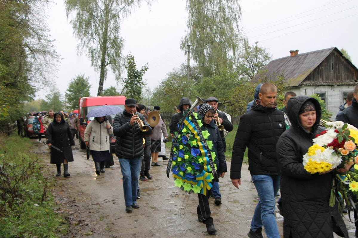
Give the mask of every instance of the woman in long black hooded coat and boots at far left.
[[68, 162], [73, 161], [72, 148], [74, 140], [68, 123], [63, 119], [61, 112], [56, 112], [53, 116], [53, 122], [50, 123], [47, 129], [47, 145], [51, 148], [50, 163], [56, 164], [56, 176], [61, 175], [61, 164], [63, 163], [63, 177], [68, 177]]

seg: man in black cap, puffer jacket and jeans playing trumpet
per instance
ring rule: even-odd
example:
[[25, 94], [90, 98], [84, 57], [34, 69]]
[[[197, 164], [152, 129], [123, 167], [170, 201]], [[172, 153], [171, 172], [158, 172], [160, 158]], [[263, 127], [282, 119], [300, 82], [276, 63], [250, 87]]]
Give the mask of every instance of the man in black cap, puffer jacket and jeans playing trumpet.
[[[126, 211], [139, 208], [137, 204], [137, 187], [140, 170], [140, 158], [143, 150], [143, 134], [152, 133], [151, 126], [145, 118], [136, 113], [136, 100], [127, 98], [124, 111], [118, 113], [113, 121], [113, 134], [116, 136], [116, 156], [118, 156], [123, 175], [123, 192], [126, 203]], [[145, 127], [145, 130], [142, 124]]]

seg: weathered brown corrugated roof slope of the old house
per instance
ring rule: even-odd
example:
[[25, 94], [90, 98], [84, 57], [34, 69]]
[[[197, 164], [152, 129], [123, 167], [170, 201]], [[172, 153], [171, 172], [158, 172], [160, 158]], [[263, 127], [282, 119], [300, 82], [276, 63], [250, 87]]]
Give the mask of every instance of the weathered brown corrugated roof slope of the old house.
[[[267, 70], [267, 72], [264, 72], [264, 75], [267, 76], [283, 72], [287, 79], [286, 82], [290, 86], [299, 86], [334, 49], [337, 48], [332, 47], [272, 60], [262, 71]], [[251, 82], [257, 82], [259, 79], [260, 75], [256, 75]]]

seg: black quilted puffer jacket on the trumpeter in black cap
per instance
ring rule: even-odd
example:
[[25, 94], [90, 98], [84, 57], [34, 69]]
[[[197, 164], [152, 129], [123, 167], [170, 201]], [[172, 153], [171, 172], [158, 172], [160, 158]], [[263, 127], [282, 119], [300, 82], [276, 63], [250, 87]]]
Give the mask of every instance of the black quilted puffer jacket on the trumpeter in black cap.
[[143, 133], [138, 125], [130, 124], [132, 115], [126, 110], [118, 113], [113, 121], [113, 134], [116, 136], [116, 156], [118, 158], [136, 158], [143, 155], [143, 134], [150, 135], [152, 128], [145, 120], [142, 114], [137, 113], [140, 120], [149, 127], [149, 130]]

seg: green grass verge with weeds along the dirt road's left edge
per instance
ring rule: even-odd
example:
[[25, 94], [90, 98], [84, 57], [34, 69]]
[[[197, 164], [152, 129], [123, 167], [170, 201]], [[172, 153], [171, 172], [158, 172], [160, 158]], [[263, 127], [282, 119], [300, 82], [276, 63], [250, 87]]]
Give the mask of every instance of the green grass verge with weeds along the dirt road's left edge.
[[59, 237], [68, 225], [54, 212], [54, 178], [33, 143], [17, 135], [0, 136], [0, 237]]

